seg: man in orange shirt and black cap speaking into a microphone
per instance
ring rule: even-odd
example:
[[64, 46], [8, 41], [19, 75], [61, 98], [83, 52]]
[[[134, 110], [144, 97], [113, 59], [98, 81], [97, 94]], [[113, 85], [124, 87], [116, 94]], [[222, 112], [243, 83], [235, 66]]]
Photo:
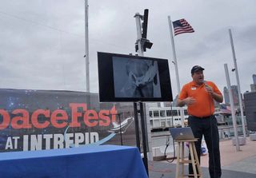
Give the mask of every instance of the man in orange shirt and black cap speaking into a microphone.
[[[198, 153], [198, 159], [201, 155], [202, 136], [206, 140], [209, 152], [209, 172], [210, 178], [219, 178], [222, 175], [219, 136], [217, 120], [214, 117], [214, 101], [222, 102], [222, 93], [218, 87], [211, 81], [204, 81], [203, 68], [194, 65], [191, 69], [193, 81], [190, 81], [182, 87], [178, 96], [177, 105], [182, 107], [187, 105], [188, 125], [191, 127], [194, 136], [198, 138], [195, 147]], [[193, 168], [189, 166], [190, 174], [193, 174]]]

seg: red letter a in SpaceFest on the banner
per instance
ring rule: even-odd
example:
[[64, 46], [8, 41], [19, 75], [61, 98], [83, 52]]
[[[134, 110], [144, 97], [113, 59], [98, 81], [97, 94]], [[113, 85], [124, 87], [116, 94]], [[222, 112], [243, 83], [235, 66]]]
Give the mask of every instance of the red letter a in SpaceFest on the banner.
[[[30, 114], [27, 110], [25, 109], [15, 109], [13, 114], [22, 114], [22, 117], [13, 117], [13, 119], [10, 122], [10, 125], [14, 129], [29, 129], [31, 128], [30, 125]], [[19, 124], [18, 122], [21, 122]]]

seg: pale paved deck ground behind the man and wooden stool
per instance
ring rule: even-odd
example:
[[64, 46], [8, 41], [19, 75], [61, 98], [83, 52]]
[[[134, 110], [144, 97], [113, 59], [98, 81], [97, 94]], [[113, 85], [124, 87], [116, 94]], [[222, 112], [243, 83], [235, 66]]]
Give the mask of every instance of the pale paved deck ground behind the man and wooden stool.
[[[222, 177], [223, 178], [255, 178], [256, 177], [256, 141], [246, 138], [246, 144], [240, 145], [240, 151], [236, 152], [232, 140], [220, 141]], [[150, 178], [175, 177], [175, 160], [169, 163], [166, 160], [150, 161]], [[202, 175], [210, 178], [208, 172], [208, 155], [201, 156]], [[186, 168], [187, 170], [187, 168]]]

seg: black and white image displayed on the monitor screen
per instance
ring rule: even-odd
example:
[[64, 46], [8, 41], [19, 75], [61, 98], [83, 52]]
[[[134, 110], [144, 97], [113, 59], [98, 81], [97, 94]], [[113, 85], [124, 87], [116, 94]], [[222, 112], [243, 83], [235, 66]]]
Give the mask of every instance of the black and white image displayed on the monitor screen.
[[158, 61], [113, 57], [115, 97], [161, 97]]

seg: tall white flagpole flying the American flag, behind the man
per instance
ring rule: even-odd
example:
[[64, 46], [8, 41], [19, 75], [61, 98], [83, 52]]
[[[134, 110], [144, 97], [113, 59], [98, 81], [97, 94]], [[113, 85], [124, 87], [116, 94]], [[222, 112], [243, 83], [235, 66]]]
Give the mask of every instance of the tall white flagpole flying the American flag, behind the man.
[[[169, 29], [170, 29], [170, 42], [171, 42], [172, 49], [173, 49], [173, 57], [174, 57], [174, 67], [175, 67], [175, 73], [176, 73], [177, 89], [178, 89], [178, 94], [179, 94], [181, 92], [181, 86], [180, 86], [179, 77], [178, 77], [178, 62], [177, 62], [177, 57], [176, 57], [175, 45], [174, 45], [173, 26], [172, 26], [172, 22], [170, 20], [170, 16], [168, 16], [168, 22], [169, 22]], [[184, 111], [183, 111], [183, 107], [180, 107], [180, 113], [181, 113], [181, 117], [182, 117], [182, 127], [184, 127]]]

